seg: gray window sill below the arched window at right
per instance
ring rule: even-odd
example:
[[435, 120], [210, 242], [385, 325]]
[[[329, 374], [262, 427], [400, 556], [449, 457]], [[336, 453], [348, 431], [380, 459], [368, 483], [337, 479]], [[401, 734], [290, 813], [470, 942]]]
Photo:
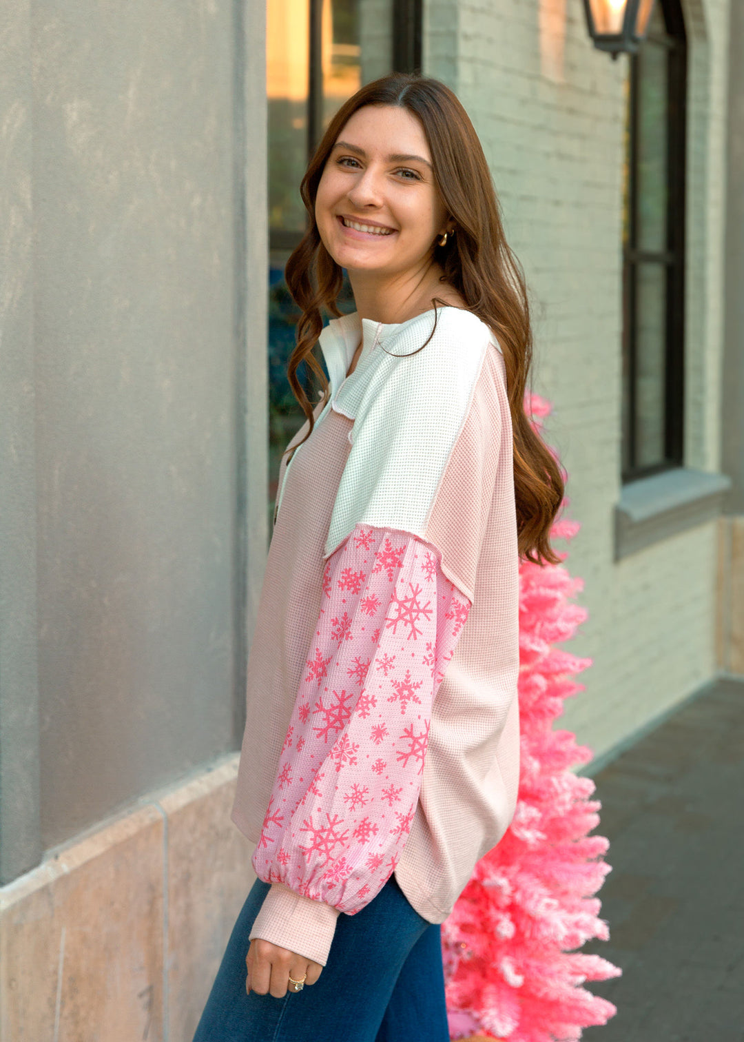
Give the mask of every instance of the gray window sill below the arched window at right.
[[712, 521], [731, 479], [678, 467], [623, 486], [615, 507], [615, 560]]

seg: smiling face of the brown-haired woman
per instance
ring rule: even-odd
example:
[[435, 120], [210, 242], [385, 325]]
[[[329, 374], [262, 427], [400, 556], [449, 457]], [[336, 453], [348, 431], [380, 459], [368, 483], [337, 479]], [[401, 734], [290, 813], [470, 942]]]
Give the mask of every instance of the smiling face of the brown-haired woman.
[[426, 267], [447, 227], [430, 164], [423, 127], [407, 109], [366, 105], [350, 117], [315, 203], [320, 238], [338, 265], [383, 277]]

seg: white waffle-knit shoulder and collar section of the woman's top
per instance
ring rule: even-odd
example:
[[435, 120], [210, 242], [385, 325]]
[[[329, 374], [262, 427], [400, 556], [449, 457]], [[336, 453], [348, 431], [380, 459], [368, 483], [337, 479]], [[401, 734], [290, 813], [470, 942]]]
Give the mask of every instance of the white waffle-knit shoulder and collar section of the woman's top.
[[461, 461], [467, 458], [480, 473], [478, 453], [490, 444], [498, 448], [498, 430], [489, 426], [498, 426], [498, 415], [479, 405], [480, 389], [491, 387], [494, 362], [501, 357], [485, 322], [446, 307], [439, 309], [436, 326], [425, 313], [397, 326], [370, 323], [364, 331], [370, 353], [331, 405], [353, 426], [325, 556], [357, 523], [425, 538], [440, 481], [460, 436], [472, 427], [471, 415], [478, 433], [468, 439], [472, 451], [456, 455], [455, 470], [463, 472]]

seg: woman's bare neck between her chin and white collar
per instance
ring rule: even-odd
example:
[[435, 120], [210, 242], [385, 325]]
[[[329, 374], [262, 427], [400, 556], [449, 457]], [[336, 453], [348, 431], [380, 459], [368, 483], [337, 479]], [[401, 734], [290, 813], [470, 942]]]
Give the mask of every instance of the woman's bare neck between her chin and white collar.
[[440, 281], [442, 268], [427, 260], [416, 271], [396, 275], [349, 270], [349, 281], [359, 319], [396, 323], [429, 311], [432, 297], [454, 302], [451, 287]]

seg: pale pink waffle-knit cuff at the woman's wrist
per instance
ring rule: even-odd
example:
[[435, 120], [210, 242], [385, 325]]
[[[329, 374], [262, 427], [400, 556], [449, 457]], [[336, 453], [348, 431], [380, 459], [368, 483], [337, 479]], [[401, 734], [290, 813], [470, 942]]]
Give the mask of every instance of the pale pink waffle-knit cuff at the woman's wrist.
[[325, 966], [338, 918], [339, 910], [332, 904], [303, 897], [283, 883], [272, 883], [248, 940], [258, 937]]

